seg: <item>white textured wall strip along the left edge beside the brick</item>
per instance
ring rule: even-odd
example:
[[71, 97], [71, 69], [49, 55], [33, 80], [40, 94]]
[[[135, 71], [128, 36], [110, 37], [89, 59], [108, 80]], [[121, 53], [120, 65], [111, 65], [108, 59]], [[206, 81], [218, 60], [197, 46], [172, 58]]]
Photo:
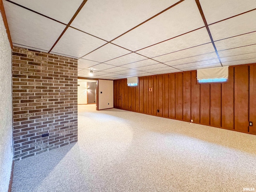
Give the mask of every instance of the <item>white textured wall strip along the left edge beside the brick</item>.
[[12, 169], [12, 50], [0, 14], [0, 191], [7, 192]]

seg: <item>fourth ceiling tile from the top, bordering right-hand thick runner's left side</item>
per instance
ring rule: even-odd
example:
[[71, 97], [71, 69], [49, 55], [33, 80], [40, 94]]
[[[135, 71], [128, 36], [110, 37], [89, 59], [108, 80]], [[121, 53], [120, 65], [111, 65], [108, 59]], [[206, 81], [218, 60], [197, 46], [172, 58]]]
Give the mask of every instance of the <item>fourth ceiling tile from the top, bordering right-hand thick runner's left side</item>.
[[209, 59], [214, 59], [214, 58], [218, 58], [216, 55], [216, 52], [202, 54], [202, 55], [193, 56], [193, 57], [188, 57], [188, 58], [184, 58], [184, 59], [173, 60], [170, 62], [165, 62], [165, 64], [167, 64], [169, 66], [175, 66], [175, 65], [198, 62], [198, 61], [209, 60]]

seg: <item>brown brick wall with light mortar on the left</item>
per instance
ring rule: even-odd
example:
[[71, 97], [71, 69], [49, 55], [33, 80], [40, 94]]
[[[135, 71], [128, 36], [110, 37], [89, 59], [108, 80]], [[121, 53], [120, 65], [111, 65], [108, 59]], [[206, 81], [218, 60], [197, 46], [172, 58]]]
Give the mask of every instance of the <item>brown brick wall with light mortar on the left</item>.
[[12, 81], [14, 160], [77, 141], [76, 59], [14, 47]]

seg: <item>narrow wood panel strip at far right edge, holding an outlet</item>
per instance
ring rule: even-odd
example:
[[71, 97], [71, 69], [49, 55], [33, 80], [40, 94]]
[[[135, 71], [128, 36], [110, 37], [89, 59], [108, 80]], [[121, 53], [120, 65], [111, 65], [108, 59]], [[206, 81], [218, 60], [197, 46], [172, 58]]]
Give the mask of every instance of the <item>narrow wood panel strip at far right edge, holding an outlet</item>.
[[256, 66], [250, 66], [250, 105], [249, 121], [252, 121], [249, 132], [256, 134]]

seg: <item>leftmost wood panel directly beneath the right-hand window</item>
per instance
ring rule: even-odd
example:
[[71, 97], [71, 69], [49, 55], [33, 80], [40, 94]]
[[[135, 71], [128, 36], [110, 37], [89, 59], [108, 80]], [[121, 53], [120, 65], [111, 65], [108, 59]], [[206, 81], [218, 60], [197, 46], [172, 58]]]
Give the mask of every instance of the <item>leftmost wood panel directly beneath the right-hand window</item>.
[[200, 84], [200, 123], [210, 125], [210, 84]]

